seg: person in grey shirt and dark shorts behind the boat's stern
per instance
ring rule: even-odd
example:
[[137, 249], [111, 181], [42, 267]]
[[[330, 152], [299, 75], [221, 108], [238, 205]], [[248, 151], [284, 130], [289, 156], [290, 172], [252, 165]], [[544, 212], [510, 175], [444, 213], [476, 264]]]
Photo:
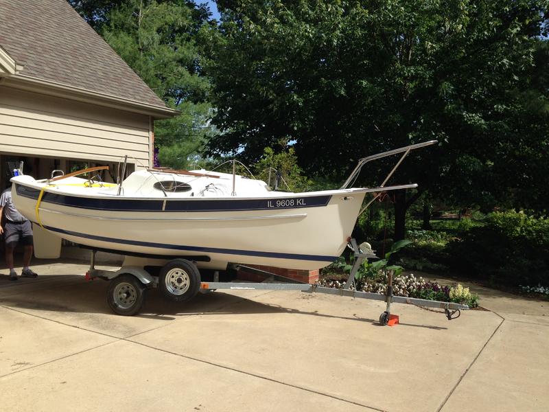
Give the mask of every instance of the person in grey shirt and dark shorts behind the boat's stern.
[[30, 269], [30, 260], [32, 258], [32, 226], [15, 208], [12, 203], [12, 190], [8, 187], [0, 195], [0, 216], [5, 214], [5, 227], [0, 226], [0, 235], [4, 235], [5, 243], [5, 263], [10, 268], [10, 280], [17, 280], [17, 273], [14, 269], [13, 252], [17, 243], [23, 243], [23, 271], [21, 277], [37, 277]]

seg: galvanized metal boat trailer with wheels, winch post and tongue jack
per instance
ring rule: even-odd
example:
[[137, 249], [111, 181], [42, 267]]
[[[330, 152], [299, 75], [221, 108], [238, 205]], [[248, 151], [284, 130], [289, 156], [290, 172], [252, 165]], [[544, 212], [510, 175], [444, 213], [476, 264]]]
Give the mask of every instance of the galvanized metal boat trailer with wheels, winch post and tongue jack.
[[[116, 314], [132, 316], [141, 310], [143, 305], [144, 292], [148, 288], [161, 288], [163, 295], [172, 301], [184, 302], [192, 299], [198, 292], [207, 293], [213, 290], [301, 290], [305, 293], [324, 293], [327, 295], [338, 295], [342, 297], [353, 297], [357, 299], [373, 299], [386, 302], [385, 311], [379, 315], [379, 324], [393, 324], [395, 317], [391, 315], [391, 304], [411, 304], [431, 310], [429, 308], [442, 309], [448, 320], [456, 319], [460, 310], [469, 309], [467, 305], [453, 302], [431, 301], [412, 297], [401, 297], [393, 295], [393, 275], [389, 272], [386, 293], [360, 292], [353, 289], [355, 274], [358, 272], [364, 259], [377, 258], [373, 251], [362, 251], [356, 241], [349, 241], [349, 248], [353, 251], [355, 262], [349, 273], [347, 282], [342, 288], [327, 288], [315, 284], [298, 283], [294, 279], [276, 275], [274, 273], [261, 271], [244, 264], [231, 264], [231, 268], [244, 268], [248, 272], [264, 275], [268, 279], [275, 279], [277, 283], [271, 282], [220, 282], [219, 272], [213, 276], [213, 282], [202, 282], [196, 262], [184, 258], [169, 260], [162, 266], [158, 276], [151, 275], [142, 266], [122, 266], [118, 271], [104, 271], [95, 268], [95, 253], [91, 250], [91, 261], [89, 271], [86, 272], [86, 280], [95, 278], [110, 280], [107, 302]], [[162, 257], [157, 256], [156, 259]], [[191, 259], [194, 257], [191, 257]], [[437, 311], [438, 312], [438, 311]]]

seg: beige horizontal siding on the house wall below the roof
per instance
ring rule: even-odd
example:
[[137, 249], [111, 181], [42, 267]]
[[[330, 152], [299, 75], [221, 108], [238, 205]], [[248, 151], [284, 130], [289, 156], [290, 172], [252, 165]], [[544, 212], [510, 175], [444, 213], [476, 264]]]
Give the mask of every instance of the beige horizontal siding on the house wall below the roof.
[[0, 86], [0, 152], [148, 167], [149, 117]]

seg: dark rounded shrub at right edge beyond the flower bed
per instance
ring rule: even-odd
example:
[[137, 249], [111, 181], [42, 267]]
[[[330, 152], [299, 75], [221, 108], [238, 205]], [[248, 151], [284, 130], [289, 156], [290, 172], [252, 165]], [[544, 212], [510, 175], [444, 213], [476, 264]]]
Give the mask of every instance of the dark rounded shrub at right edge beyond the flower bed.
[[549, 219], [495, 212], [449, 244], [452, 267], [509, 286], [549, 286]]

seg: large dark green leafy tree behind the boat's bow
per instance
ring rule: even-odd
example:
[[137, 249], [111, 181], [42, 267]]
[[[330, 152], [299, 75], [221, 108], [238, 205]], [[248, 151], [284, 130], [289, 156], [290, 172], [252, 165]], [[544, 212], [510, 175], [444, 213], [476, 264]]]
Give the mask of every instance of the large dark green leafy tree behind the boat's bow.
[[[517, 139], [543, 146], [538, 139], [548, 131], [539, 117], [522, 119], [519, 97], [529, 87], [535, 45], [547, 34], [547, 6], [220, 0], [207, 71], [222, 134], [209, 150], [254, 161], [289, 136], [307, 174], [342, 179], [360, 157], [438, 139], [395, 174], [399, 183], [420, 185], [412, 196], [395, 194], [397, 239], [424, 190], [461, 203], [502, 201], [515, 185], [504, 179], [505, 164], [529, 152], [506, 148]], [[547, 172], [535, 156], [528, 161]], [[384, 168], [380, 162], [360, 183], [373, 183]]]

